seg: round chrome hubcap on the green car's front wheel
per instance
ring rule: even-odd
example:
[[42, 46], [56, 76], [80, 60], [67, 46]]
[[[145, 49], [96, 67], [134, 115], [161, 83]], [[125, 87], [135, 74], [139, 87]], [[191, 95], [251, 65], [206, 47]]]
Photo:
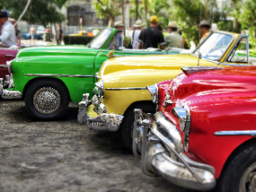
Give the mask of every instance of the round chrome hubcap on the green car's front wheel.
[[33, 105], [42, 114], [52, 114], [60, 108], [61, 95], [53, 88], [43, 87], [36, 91]]

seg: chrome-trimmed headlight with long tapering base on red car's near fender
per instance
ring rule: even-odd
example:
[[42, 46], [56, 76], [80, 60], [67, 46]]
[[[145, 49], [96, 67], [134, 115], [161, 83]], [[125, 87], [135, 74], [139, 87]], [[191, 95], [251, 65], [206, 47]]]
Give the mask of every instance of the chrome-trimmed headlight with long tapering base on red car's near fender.
[[183, 108], [172, 108], [172, 113], [178, 118], [180, 128], [184, 133], [185, 150], [189, 149], [189, 132], [191, 127], [191, 114], [189, 105], [184, 105]]

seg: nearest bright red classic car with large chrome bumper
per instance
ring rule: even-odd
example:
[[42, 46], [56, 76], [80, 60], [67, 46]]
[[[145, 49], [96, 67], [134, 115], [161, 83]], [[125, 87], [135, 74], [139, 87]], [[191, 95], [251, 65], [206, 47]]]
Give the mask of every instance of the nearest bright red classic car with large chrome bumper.
[[154, 116], [135, 110], [142, 170], [194, 190], [256, 191], [256, 67], [182, 70], [147, 87]]

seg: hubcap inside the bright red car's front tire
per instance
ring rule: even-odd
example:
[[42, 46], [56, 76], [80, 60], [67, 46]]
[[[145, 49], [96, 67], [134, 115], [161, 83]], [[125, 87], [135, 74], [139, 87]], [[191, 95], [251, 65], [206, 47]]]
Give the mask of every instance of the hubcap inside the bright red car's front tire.
[[240, 192], [256, 192], [256, 163], [244, 171], [239, 184]]

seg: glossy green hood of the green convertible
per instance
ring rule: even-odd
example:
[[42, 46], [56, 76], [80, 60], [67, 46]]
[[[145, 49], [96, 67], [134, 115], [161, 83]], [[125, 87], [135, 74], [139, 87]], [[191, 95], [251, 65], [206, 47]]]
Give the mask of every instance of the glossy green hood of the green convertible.
[[85, 52], [95, 51], [88, 46], [38, 46], [22, 49], [17, 57], [44, 57], [44, 56], [65, 56], [84, 55]]

